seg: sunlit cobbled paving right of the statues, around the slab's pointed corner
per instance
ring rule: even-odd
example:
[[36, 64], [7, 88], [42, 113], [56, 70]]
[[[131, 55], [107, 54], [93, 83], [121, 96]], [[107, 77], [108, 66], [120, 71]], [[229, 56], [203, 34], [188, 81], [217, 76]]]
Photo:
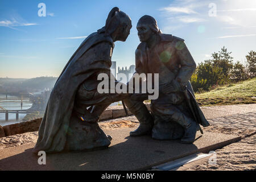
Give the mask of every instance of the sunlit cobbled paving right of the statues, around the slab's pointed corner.
[[216, 150], [215, 164], [210, 164], [208, 157], [172, 170], [255, 170], [256, 105], [203, 107], [202, 110], [210, 123], [204, 131], [238, 135], [242, 140]]

